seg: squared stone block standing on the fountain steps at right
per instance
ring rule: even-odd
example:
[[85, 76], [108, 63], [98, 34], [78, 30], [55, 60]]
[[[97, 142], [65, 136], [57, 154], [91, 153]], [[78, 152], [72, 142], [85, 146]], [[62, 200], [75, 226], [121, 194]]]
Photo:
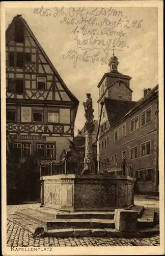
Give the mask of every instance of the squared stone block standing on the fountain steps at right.
[[115, 228], [120, 231], [136, 231], [137, 218], [137, 211], [115, 209]]

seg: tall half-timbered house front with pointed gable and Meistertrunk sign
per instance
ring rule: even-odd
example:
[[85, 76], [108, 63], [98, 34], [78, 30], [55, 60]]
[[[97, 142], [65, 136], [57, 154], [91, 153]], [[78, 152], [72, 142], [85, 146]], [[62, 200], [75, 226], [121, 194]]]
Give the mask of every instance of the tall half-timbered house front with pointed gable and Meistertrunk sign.
[[58, 160], [73, 140], [78, 100], [17, 15], [6, 30], [6, 131], [21, 159]]

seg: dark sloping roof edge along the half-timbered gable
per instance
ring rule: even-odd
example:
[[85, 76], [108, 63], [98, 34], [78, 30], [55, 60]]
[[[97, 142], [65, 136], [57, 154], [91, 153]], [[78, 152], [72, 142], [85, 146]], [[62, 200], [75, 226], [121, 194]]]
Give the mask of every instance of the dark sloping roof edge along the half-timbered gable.
[[50, 61], [50, 59], [48, 58], [47, 54], [45, 53], [45, 51], [43, 50], [43, 48], [41, 47], [39, 41], [37, 40], [37, 38], [35, 37], [35, 35], [33, 34], [32, 30], [30, 29], [28, 23], [26, 23], [26, 21], [22, 18], [21, 15], [17, 15], [13, 18], [11, 24], [8, 26], [7, 30], [6, 30], [6, 45], [8, 44], [10, 37], [11, 37], [11, 33], [13, 32], [14, 29], [14, 24], [15, 22], [17, 22], [18, 20], [21, 20], [21, 22], [23, 23], [23, 25], [25, 26], [25, 28], [28, 30], [28, 32], [30, 33], [30, 35], [32, 36], [33, 40], [35, 41], [36, 45], [38, 46], [38, 48], [40, 49], [41, 53], [43, 54], [44, 58], [47, 60], [47, 62], [49, 63], [49, 66], [52, 70], [52, 72], [57, 76], [57, 78], [59, 79], [59, 81], [61, 82], [61, 85], [63, 87], [63, 89], [69, 94], [69, 96], [71, 97], [72, 101], [74, 101], [76, 103], [76, 106], [78, 106], [79, 101], [78, 99], [71, 93], [71, 91], [67, 88], [66, 84], [64, 83], [63, 79], [61, 78], [61, 76], [59, 75], [58, 71], [54, 68], [52, 62]]

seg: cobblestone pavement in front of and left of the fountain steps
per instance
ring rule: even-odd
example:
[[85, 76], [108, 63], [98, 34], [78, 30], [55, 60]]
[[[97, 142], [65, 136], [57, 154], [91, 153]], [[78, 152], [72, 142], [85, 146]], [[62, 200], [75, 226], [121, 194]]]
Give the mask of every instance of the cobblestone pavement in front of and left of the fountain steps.
[[[12, 214], [16, 209], [35, 207], [40, 204], [8, 205], [7, 213]], [[37, 246], [158, 246], [159, 236], [143, 239], [124, 238], [33, 238], [33, 233], [7, 221], [7, 246], [8, 247], [37, 247]]]

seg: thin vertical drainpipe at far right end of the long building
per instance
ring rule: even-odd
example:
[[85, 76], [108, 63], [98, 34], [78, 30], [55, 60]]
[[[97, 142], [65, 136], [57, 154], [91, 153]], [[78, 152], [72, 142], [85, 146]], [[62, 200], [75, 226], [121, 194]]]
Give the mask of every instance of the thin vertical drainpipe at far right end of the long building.
[[156, 115], [156, 190], [158, 190], [159, 185], [159, 164], [158, 164], [158, 157], [159, 157], [159, 103], [157, 97], [157, 110], [155, 111]]

